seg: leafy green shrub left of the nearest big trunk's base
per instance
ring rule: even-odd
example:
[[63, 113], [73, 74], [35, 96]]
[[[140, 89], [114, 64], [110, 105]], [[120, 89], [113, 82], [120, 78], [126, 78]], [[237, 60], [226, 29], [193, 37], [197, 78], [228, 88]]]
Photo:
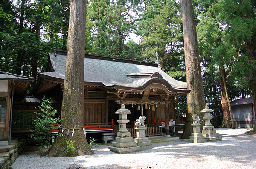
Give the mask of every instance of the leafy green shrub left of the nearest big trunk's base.
[[57, 110], [54, 110], [52, 107], [52, 99], [43, 97], [41, 106], [39, 106], [41, 112], [35, 112], [37, 118], [35, 119], [35, 129], [31, 130], [34, 134], [30, 135], [30, 138], [34, 140], [41, 141], [40, 148], [41, 151], [48, 151], [51, 146], [52, 133], [53, 130], [58, 130], [58, 126], [53, 126], [53, 124], [58, 124], [60, 118], [53, 118], [57, 113]]

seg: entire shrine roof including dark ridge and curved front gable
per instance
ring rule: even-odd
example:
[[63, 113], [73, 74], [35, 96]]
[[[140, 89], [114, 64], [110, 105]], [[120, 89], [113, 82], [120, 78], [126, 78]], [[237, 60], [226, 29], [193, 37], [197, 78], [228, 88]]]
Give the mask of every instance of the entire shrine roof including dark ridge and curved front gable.
[[[39, 78], [64, 82], [66, 51], [49, 53], [48, 71]], [[42, 79], [41, 79], [42, 80]], [[40, 81], [40, 79], [39, 79]], [[39, 82], [40, 83], [40, 82]], [[163, 72], [156, 63], [85, 54], [84, 84], [102, 85], [110, 92], [142, 92], [151, 84], [162, 85], [166, 93], [186, 94], [187, 84]], [[40, 85], [42, 87], [42, 84]], [[38, 89], [34, 89], [37, 93]]]

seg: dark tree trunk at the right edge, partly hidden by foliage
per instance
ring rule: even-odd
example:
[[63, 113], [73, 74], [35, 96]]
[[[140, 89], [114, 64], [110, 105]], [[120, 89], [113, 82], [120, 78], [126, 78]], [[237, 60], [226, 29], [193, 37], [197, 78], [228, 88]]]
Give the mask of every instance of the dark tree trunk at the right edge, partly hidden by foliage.
[[[245, 47], [246, 47], [246, 53], [247, 53], [248, 59], [256, 61], [256, 37], [253, 36], [251, 41], [245, 42]], [[254, 110], [256, 110], [256, 70], [255, 69], [251, 71], [250, 82], [251, 82], [251, 91], [253, 93]], [[254, 117], [256, 117], [256, 111], [255, 111]], [[253, 128], [253, 131], [256, 131], [256, 125]]]

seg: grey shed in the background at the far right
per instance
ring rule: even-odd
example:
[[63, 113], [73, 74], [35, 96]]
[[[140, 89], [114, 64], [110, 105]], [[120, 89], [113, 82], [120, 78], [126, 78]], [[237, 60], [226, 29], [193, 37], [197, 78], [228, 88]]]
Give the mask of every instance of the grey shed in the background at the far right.
[[237, 99], [231, 102], [235, 127], [252, 128], [255, 125], [253, 104], [253, 97]]

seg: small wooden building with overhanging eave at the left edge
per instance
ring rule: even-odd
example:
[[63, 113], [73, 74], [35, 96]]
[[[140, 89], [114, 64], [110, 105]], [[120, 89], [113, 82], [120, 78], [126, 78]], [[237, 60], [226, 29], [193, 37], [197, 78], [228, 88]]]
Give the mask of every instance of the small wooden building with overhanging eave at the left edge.
[[0, 71], [0, 142], [7, 145], [10, 131], [12, 99], [23, 97], [34, 78]]

